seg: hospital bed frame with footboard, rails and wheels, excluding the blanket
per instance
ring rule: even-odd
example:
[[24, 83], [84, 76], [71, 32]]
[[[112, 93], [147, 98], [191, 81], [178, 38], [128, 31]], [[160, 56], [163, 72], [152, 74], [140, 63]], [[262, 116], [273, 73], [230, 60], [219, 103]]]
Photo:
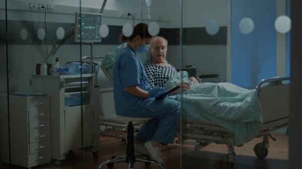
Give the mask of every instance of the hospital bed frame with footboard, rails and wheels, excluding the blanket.
[[[100, 64], [100, 68], [107, 79], [113, 83], [112, 77], [105, 67]], [[213, 75], [214, 76], [214, 75]], [[209, 76], [201, 76], [200, 78], [212, 78]], [[214, 78], [220, 78], [215, 75]], [[290, 78], [273, 78], [262, 80], [257, 84], [255, 92], [260, 100], [262, 115], [263, 115], [263, 125], [261, 131], [256, 137], [263, 137], [263, 141], [254, 146], [255, 155], [259, 159], [263, 159], [268, 155], [269, 148], [269, 138], [272, 138], [273, 141], [276, 138], [272, 137], [270, 132], [277, 130], [282, 127], [287, 127], [289, 125], [289, 87], [290, 84], [283, 84], [282, 82], [288, 82]], [[267, 85], [269, 84], [269, 85]], [[113, 88], [105, 88], [100, 90], [100, 95], [103, 98], [100, 100], [111, 100], [108, 99], [108, 93], [112, 92]], [[106, 103], [101, 103], [102, 104]], [[278, 105], [278, 106], [277, 106]], [[101, 107], [100, 107], [101, 108]], [[102, 110], [102, 108], [100, 109]], [[120, 127], [125, 128], [126, 124], [115, 124], [107, 123], [106, 116], [110, 116], [110, 113], [103, 110], [101, 112], [101, 125], [108, 125], [111, 127]], [[140, 126], [137, 126], [135, 129], [140, 129]], [[180, 135], [180, 130], [182, 129], [182, 137]], [[115, 135], [117, 136], [117, 135]], [[225, 161], [227, 161], [231, 167], [233, 166], [235, 151], [234, 151], [234, 133], [227, 130], [224, 127], [221, 127], [217, 124], [205, 123], [196, 119], [182, 119], [182, 126], [178, 127], [176, 143], [183, 144], [194, 144], [195, 150], [200, 150], [210, 143], [216, 144], [226, 144], [228, 147], [228, 153], [226, 155]], [[123, 137], [120, 137], [123, 138]], [[190, 142], [188, 140], [195, 140], [196, 142]], [[182, 142], [181, 142], [182, 141]], [[242, 145], [237, 145], [242, 146]]]

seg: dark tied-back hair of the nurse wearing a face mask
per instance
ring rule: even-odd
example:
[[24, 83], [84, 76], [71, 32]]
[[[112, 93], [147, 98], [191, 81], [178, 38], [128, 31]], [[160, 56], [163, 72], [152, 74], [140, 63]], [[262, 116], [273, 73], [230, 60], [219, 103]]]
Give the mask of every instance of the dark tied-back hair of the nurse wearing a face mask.
[[142, 39], [152, 38], [148, 32], [148, 25], [145, 23], [136, 24], [133, 27], [133, 33], [130, 37], [126, 37], [123, 33], [120, 36], [120, 42], [132, 41], [135, 37], [140, 36]]

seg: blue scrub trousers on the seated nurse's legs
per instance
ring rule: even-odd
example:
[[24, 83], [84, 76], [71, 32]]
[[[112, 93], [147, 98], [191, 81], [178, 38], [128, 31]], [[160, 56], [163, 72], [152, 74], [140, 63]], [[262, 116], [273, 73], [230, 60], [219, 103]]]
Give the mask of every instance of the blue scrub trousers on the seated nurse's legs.
[[152, 106], [154, 106], [153, 111], [136, 108], [131, 113], [133, 117], [153, 118], [144, 123], [135, 138], [143, 143], [150, 140], [159, 143], [173, 143], [178, 125], [180, 103], [177, 100], [165, 98], [154, 100]]

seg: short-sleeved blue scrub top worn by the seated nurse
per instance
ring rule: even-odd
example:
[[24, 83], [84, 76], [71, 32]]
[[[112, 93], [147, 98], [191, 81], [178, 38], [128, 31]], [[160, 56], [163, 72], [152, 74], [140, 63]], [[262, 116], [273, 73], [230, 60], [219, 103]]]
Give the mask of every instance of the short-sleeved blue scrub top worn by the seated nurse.
[[138, 97], [124, 90], [129, 86], [138, 86], [143, 90], [150, 89], [144, 65], [129, 46], [116, 56], [113, 81], [115, 111], [118, 115], [131, 117], [133, 110], [154, 109], [154, 98]]

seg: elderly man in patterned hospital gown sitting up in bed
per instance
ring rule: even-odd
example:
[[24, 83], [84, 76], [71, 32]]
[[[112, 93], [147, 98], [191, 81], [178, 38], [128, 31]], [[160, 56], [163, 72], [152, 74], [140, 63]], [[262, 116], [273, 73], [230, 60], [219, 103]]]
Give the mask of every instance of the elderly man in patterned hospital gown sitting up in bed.
[[[154, 37], [150, 42], [151, 61], [145, 64], [145, 70], [149, 79], [151, 88], [154, 86], [163, 87], [163, 85], [177, 73], [176, 69], [169, 63], [165, 62], [168, 42], [163, 37]], [[198, 81], [189, 78], [195, 84]], [[190, 89], [187, 83], [182, 84], [184, 90]]]

